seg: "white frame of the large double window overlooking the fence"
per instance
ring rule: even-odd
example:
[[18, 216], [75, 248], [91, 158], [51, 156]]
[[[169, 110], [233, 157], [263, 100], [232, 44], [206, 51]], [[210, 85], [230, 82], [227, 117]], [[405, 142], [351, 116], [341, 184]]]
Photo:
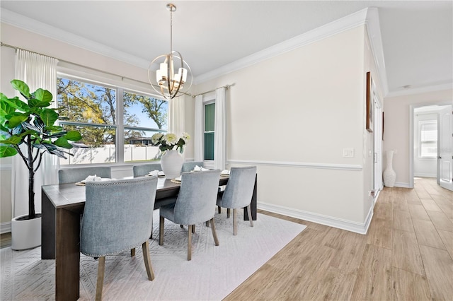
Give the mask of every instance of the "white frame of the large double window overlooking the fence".
[[[98, 72], [99, 73], [99, 72]], [[111, 77], [111, 75], [110, 75]], [[145, 88], [145, 83], [139, 82], [139, 81], [132, 81], [129, 80], [130, 83], [124, 83], [122, 78], [121, 81], [117, 81], [113, 78], [108, 78], [107, 75], [101, 74], [100, 75], [92, 75], [91, 73], [88, 73], [88, 71], [79, 71], [79, 70], [72, 70], [68, 69], [66, 67], [62, 67], [59, 70], [57, 70], [57, 78], [67, 78], [71, 81], [80, 81], [82, 83], [88, 83], [91, 85], [102, 85], [103, 87], [110, 88], [115, 90], [115, 97], [116, 97], [116, 107], [115, 107], [115, 118], [117, 124], [93, 124], [93, 123], [88, 123], [88, 122], [71, 122], [67, 120], [59, 120], [59, 124], [64, 125], [78, 125], [78, 126], [101, 126], [101, 127], [110, 127], [115, 129], [116, 135], [115, 135], [115, 163], [93, 163], [93, 164], [64, 164], [65, 168], [70, 168], [70, 167], [75, 167], [75, 166], [96, 166], [96, 165], [134, 165], [137, 164], [137, 162], [142, 161], [137, 161], [137, 162], [130, 162], [127, 161], [125, 162], [125, 129], [134, 129], [138, 131], [151, 131], [151, 132], [160, 132], [160, 133], [166, 133], [168, 129], [157, 129], [157, 128], [148, 128], [148, 127], [143, 127], [143, 126], [129, 126], [124, 124], [124, 100], [123, 100], [123, 95], [125, 92], [128, 93], [136, 93], [139, 95], [144, 95], [148, 96], [150, 98], [157, 98], [159, 100], [165, 100], [168, 102], [168, 100], [162, 98], [159, 95], [156, 95], [154, 93], [146, 92], [147, 88]], [[57, 83], [55, 83], [57, 85]], [[150, 88], [149, 88], [150, 90]], [[55, 97], [55, 101], [57, 101], [58, 95]], [[168, 106], [167, 106], [168, 108]], [[167, 111], [167, 125], [168, 125], [168, 111]]]

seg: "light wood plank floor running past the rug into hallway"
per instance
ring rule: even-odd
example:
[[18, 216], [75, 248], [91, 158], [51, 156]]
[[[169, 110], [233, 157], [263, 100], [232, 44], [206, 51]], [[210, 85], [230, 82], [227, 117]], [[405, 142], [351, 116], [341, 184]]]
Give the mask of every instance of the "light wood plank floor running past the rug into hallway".
[[435, 179], [384, 187], [367, 235], [260, 213], [308, 227], [224, 301], [453, 300], [453, 192]]

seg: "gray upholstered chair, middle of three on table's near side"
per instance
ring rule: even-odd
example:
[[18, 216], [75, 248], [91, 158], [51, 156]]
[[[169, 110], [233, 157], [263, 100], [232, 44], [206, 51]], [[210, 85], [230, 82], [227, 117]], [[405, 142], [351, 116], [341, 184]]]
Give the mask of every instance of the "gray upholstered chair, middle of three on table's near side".
[[215, 245], [219, 245], [214, 225], [215, 202], [219, 187], [220, 170], [183, 172], [176, 202], [161, 206], [159, 244], [164, 244], [165, 218], [179, 225], [188, 225], [187, 260], [192, 259], [192, 233], [197, 223], [210, 221]]

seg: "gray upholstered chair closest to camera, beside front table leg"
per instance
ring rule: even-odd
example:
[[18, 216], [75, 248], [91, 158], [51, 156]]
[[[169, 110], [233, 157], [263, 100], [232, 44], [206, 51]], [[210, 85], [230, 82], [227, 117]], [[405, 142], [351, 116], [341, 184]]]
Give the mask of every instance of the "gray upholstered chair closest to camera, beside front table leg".
[[154, 279], [148, 238], [153, 225], [157, 177], [87, 182], [80, 252], [99, 258], [96, 300], [101, 300], [105, 256], [142, 244], [148, 279]]

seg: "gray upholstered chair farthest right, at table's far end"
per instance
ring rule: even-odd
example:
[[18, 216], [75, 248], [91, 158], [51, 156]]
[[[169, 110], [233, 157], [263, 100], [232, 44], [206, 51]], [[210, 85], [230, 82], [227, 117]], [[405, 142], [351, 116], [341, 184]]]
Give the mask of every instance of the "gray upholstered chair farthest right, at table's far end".
[[228, 183], [224, 191], [220, 191], [217, 195], [217, 206], [227, 208], [227, 216], [229, 210], [233, 209], [233, 234], [238, 232], [236, 209], [247, 207], [248, 216], [250, 217], [250, 225], [253, 227], [251, 218], [250, 203], [253, 195], [253, 187], [255, 186], [256, 166], [251, 167], [231, 167], [229, 172]]

